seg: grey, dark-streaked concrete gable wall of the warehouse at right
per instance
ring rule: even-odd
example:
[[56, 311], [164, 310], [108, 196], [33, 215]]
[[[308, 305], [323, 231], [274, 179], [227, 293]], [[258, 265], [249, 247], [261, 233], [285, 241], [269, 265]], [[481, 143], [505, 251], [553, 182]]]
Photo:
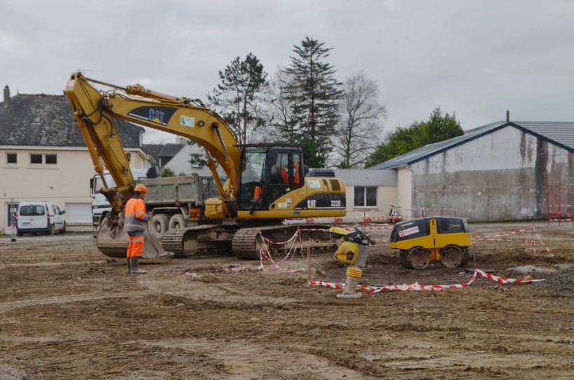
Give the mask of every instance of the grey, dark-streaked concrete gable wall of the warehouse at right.
[[453, 208], [472, 222], [546, 218], [572, 204], [574, 153], [505, 127], [412, 164], [413, 208]]

